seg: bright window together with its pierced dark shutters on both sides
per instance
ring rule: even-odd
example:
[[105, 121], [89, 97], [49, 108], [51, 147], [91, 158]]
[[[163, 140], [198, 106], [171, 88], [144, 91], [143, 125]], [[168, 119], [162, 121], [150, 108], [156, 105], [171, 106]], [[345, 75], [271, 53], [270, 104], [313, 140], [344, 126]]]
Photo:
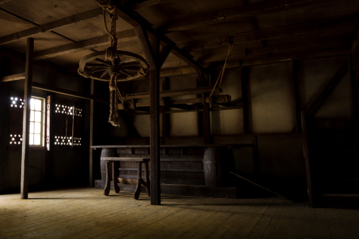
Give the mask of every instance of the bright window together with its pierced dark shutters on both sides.
[[[23, 107], [25, 102], [15, 95], [9, 100], [9, 146], [16, 148], [23, 144]], [[81, 103], [59, 101], [54, 103], [54, 107], [51, 107], [50, 102], [50, 96], [47, 97], [47, 100], [38, 97], [30, 99], [29, 145], [45, 146], [46, 144], [47, 150], [51, 150], [51, 146], [57, 148], [81, 146]], [[53, 117], [50, 117], [52, 114]], [[50, 124], [52, 132], [50, 132]]]

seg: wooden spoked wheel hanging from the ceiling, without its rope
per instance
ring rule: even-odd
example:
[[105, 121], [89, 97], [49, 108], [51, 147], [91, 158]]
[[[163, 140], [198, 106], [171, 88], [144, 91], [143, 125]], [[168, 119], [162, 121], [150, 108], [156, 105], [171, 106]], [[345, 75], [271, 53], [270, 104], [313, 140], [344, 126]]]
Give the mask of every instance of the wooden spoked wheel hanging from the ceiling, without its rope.
[[106, 59], [106, 52], [95, 52], [82, 58], [79, 62], [79, 74], [98, 81], [110, 81], [110, 76], [117, 76], [117, 81], [130, 81], [147, 75], [148, 66], [145, 59], [131, 53], [117, 51], [118, 58]]

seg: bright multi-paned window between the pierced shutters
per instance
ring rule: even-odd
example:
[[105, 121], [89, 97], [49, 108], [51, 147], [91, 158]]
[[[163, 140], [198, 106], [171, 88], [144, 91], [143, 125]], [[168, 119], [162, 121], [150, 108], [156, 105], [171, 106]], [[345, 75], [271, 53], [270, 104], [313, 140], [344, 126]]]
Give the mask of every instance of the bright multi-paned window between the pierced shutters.
[[32, 97], [30, 100], [29, 145], [44, 146], [45, 99]]

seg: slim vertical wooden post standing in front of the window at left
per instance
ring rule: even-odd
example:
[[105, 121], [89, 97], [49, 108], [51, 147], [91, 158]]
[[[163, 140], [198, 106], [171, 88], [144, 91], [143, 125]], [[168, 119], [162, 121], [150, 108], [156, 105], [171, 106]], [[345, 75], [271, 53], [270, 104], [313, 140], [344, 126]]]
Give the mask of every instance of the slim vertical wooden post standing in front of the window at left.
[[33, 49], [34, 39], [28, 38], [26, 47], [25, 81], [23, 87], [23, 145], [21, 150], [21, 199], [28, 199], [28, 165], [30, 156], [29, 128], [31, 86], [33, 83]]

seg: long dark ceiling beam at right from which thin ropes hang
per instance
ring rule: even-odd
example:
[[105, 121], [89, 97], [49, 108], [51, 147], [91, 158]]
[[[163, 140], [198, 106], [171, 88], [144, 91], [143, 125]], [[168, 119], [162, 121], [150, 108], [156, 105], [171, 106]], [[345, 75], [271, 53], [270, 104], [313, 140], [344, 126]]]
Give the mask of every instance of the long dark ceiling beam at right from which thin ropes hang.
[[[353, 14], [340, 18], [327, 18], [319, 21], [297, 23], [281, 28], [252, 31], [233, 36], [233, 44], [258, 42], [261, 40], [275, 40], [285, 37], [297, 37], [300, 35], [321, 35], [323, 33], [338, 33], [353, 29], [359, 23], [359, 14]], [[216, 37], [205, 41], [180, 43], [181, 49], [187, 52], [197, 52], [204, 49], [214, 49], [228, 46], [228, 36]]]

